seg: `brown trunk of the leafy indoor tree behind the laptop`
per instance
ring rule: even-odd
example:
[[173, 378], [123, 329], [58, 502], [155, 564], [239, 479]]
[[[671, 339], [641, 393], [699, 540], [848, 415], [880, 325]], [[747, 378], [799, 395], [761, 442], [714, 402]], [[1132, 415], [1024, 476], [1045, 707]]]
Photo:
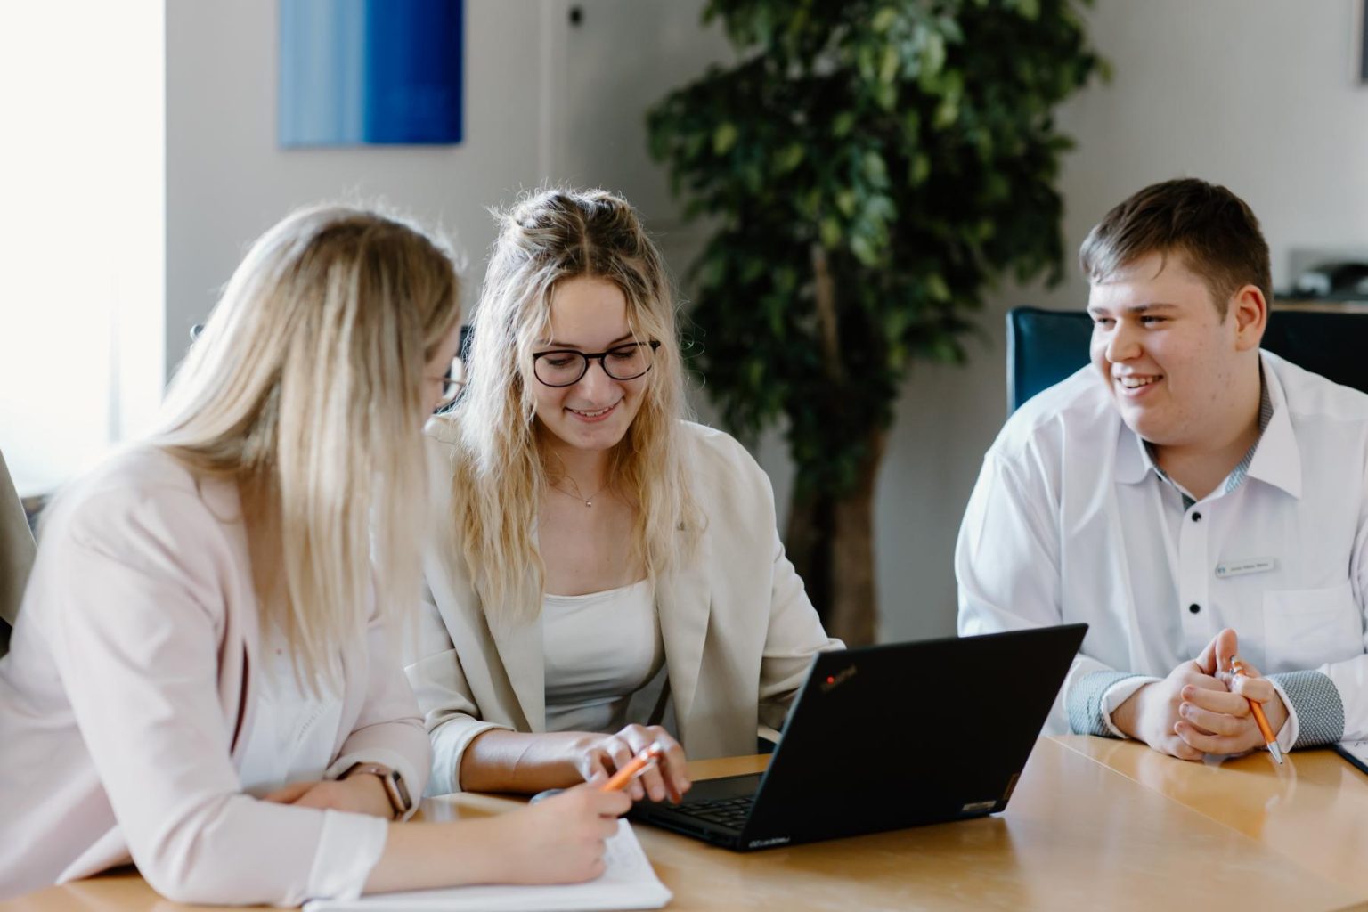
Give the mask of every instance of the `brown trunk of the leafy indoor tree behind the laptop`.
[[873, 643], [877, 633], [874, 481], [885, 443], [884, 431], [866, 438], [859, 479], [847, 496], [795, 498], [788, 517], [789, 559], [826, 632], [847, 645]]

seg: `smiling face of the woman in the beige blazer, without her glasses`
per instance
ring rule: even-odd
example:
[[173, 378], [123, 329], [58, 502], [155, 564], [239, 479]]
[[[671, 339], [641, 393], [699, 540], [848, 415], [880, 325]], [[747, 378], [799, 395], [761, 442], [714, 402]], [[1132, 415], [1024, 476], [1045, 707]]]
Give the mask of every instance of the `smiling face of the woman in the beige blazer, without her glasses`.
[[[580, 276], [555, 287], [549, 338], [538, 339], [532, 351], [595, 353], [632, 342], [637, 339], [627, 321], [622, 290], [603, 279]], [[617, 446], [632, 427], [650, 376], [614, 380], [594, 360], [572, 386], [549, 387], [535, 376], [528, 381], [536, 399], [536, 418], [553, 444], [602, 453]]]

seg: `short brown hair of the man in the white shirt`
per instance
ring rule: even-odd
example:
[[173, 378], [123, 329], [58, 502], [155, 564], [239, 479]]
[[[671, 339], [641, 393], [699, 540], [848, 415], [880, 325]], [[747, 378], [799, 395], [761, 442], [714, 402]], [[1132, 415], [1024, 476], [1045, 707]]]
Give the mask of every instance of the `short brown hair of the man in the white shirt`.
[[1089, 282], [1107, 282], [1150, 253], [1181, 253], [1207, 282], [1220, 319], [1230, 297], [1246, 284], [1272, 301], [1268, 242], [1259, 219], [1226, 187], [1196, 178], [1155, 183], [1093, 226], [1078, 249]]

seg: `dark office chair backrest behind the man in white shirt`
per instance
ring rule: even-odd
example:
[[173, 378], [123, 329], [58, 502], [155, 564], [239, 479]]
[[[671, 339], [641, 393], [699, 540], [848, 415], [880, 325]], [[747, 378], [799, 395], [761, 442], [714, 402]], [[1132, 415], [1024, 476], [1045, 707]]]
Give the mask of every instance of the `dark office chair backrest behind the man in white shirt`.
[[[1083, 310], [1012, 308], [1007, 313], [1007, 410], [1088, 364], [1093, 321]], [[1368, 314], [1294, 308], [1268, 314], [1263, 347], [1368, 392]]]

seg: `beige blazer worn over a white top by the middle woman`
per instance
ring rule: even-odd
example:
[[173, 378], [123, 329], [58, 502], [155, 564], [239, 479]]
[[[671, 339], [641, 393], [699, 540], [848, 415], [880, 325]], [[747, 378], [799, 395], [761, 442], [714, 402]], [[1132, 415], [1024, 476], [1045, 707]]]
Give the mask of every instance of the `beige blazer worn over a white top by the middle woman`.
[[[432, 736], [432, 794], [460, 790], [461, 756], [482, 732], [546, 730], [542, 623], [488, 623], [446, 531], [454, 431], [450, 420], [428, 425], [438, 529], [423, 554], [428, 602], [406, 669]], [[684, 438], [707, 526], [694, 559], [655, 593], [676, 734], [694, 759], [754, 753], [757, 726], [782, 725], [813, 654], [841, 644], [784, 556], [765, 472], [721, 431], [685, 423]]]

